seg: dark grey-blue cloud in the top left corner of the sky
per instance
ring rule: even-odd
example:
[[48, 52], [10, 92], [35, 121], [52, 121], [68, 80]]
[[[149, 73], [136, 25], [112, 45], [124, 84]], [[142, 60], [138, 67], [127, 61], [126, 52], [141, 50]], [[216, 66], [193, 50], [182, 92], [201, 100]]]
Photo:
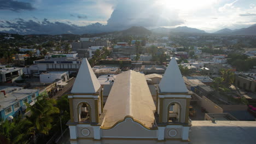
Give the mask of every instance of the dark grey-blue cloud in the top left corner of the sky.
[[28, 2], [18, 2], [13, 0], [0, 0], [0, 9], [2, 10], [12, 10], [15, 12], [20, 12], [22, 10], [34, 10], [31, 3]]

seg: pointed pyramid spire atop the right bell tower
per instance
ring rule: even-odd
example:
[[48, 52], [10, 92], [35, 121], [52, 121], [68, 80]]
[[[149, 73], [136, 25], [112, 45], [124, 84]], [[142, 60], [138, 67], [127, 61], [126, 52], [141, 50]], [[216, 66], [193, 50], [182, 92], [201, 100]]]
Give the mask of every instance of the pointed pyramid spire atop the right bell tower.
[[188, 92], [175, 57], [172, 57], [171, 62], [165, 70], [165, 74], [159, 83], [159, 88], [160, 92], [164, 93]]

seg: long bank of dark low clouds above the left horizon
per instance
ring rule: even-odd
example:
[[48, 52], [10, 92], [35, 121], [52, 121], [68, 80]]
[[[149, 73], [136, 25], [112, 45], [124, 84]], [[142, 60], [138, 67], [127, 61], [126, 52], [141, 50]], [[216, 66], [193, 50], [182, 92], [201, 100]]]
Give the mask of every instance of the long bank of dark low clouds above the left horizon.
[[14, 21], [0, 21], [2, 31], [5, 33], [19, 34], [84, 34], [109, 31], [101, 23], [93, 23], [88, 26], [77, 26], [71, 22], [51, 22], [48, 19], [36, 22], [33, 20], [15, 19]]

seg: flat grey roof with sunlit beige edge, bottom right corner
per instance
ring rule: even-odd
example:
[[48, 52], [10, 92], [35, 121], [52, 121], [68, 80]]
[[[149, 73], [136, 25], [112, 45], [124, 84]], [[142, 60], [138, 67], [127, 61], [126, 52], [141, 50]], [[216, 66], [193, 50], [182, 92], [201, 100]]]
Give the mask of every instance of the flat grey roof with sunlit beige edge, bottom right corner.
[[255, 143], [256, 121], [192, 121], [191, 143]]

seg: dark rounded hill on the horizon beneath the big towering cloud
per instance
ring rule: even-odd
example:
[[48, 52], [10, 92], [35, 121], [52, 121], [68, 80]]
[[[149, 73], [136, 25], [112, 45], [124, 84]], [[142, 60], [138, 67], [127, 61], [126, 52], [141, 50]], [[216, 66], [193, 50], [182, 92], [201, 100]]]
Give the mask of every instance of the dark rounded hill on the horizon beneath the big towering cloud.
[[150, 35], [152, 34], [151, 31], [149, 31], [147, 28], [144, 27], [130, 27], [128, 29], [125, 29], [123, 31], [118, 31], [121, 35]]

